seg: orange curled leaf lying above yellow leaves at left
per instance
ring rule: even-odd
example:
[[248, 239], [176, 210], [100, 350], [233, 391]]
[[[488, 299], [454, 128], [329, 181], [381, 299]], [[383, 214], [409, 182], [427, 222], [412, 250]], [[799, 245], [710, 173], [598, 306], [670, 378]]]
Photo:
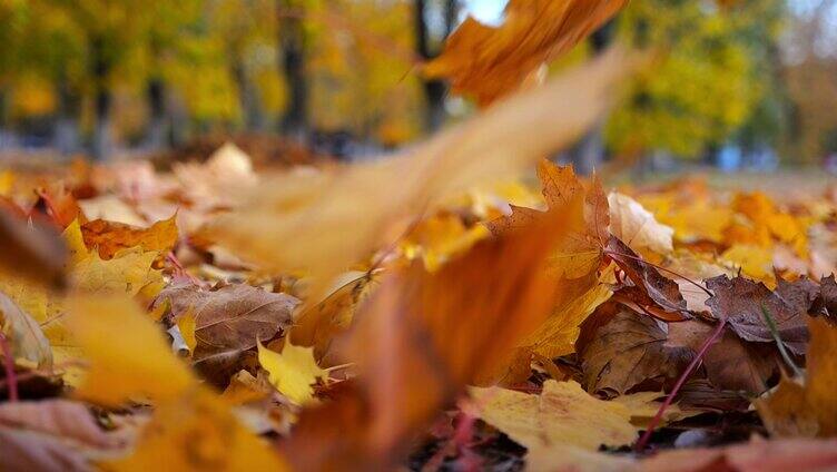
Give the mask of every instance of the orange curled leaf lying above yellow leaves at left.
[[121, 249], [139, 246], [142, 250], [168, 253], [177, 243], [176, 216], [155, 223], [149, 228], [136, 228], [121, 223], [95, 219], [81, 225], [87, 247], [98, 250], [102, 259], [111, 259]]

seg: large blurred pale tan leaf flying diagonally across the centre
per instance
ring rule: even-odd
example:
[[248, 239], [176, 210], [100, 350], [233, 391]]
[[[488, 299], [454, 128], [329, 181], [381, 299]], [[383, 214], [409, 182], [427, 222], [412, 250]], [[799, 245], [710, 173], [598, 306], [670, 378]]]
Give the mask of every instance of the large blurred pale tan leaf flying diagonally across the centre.
[[520, 175], [568, 146], [633, 65], [630, 55], [611, 52], [384, 161], [265, 179], [206, 236], [265, 268], [305, 269], [322, 284], [392, 243], [429, 205]]

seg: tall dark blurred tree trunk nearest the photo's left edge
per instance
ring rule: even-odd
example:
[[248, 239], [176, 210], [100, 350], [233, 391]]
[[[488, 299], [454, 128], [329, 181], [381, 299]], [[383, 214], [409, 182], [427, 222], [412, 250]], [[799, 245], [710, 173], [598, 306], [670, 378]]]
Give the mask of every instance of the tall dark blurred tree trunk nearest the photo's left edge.
[[91, 153], [96, 160], [102, 160], [110, 157], [112, 150], [112, 136], [110, 128], [110, 106], [112, 96], [108, 80], [111, 70], [111, 61], [109, 60], [105, 48], [106, 43], [102, 38], [93, 37], [91, 39], [90, 55], [92, 61], [92, 79], [96, 90], [96, 125], [93, 127]]

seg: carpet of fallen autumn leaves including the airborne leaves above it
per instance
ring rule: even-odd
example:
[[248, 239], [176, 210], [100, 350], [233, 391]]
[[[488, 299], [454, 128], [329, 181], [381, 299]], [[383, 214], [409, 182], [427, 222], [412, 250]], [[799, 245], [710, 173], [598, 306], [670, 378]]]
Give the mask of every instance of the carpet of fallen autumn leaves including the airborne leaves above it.
[[[624, 2], [536, 3], [425, 73], [488, 105]], [[834, 195], [605, 190], [543, 160], [638, 63], [368, 163], [6, 170], [0, 465], [834, 469]]]

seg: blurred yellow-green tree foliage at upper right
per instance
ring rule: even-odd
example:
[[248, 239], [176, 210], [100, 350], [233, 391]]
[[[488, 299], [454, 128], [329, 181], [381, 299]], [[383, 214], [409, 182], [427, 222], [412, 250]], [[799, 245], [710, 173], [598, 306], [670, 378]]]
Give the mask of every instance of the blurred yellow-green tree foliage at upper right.
[[765, 12], [775, 0], [710, 2], [637, 0], [620, 36], [658, 52], [607, 128], [617, 154], [666, 149], [696, 157], [754, 117], [767, 95], [766, 43], [779, 27]]

